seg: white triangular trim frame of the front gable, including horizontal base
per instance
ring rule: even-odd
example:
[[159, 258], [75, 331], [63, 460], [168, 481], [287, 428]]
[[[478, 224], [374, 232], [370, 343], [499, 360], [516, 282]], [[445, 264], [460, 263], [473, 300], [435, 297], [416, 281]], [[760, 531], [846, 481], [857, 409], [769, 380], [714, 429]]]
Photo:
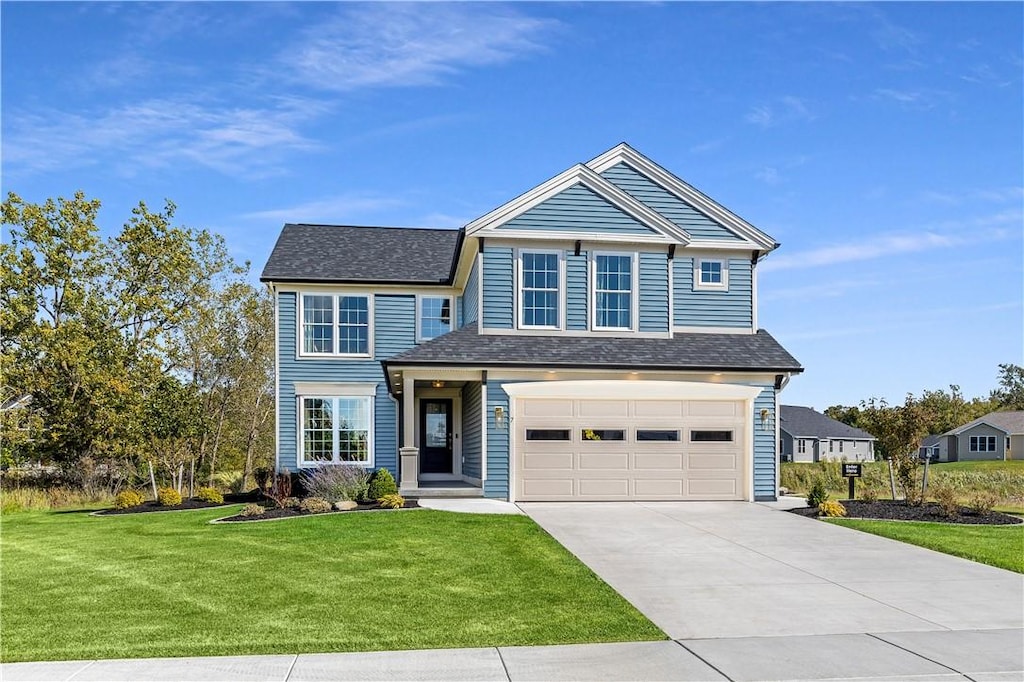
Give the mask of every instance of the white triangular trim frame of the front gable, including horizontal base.
[[[529, 191], [516, 197], [511, 202], [499, 206], [494, 211], [473, 220], [466, 225], [466, 235], [475, 237], [486, 237], [488, 235], [505, 238], [523, 237], [528, 239], [538, 238], [538, 229], [523, 229], [522, 222], [519, 226], [507, 226], [516, 218], [531, 211], [532, 209], [555, 199], [562, 193], [572, 189], [580, 193], [580, 189], [589, 190], [593, 198], [601, 200], [603, 203], [614, 208], [618, 213], [624, 214], [635, 221], [636, 224], [644, 227], [647, 231], [630, 231], [627, 233], [604, 232], [598, 230], [588, 232], [588, 236], [599, 238], [605, 241], [627, 241], [627, 242], [650, 242], [663, 244], [689, 244], [690, 236], [674, 222], [645, 206], [615, 185], [611, 184], [600, 175], [582, 164], [577, 164], [572, 168], [556, 175], [547, 182], [539, 184]], [[582, 197], [582, 195], [581, 195]], [[564, 197], [563, 197], [564, 199]], [[556, 200], [556, 204], [558, 200]], [[562, 204], [562, 208], [568, 208]], [[565, 216], [563, 215], [563, 218]], [[562, 229], [544, 229], [546, 238], [579, 238], [579, 232]]]

